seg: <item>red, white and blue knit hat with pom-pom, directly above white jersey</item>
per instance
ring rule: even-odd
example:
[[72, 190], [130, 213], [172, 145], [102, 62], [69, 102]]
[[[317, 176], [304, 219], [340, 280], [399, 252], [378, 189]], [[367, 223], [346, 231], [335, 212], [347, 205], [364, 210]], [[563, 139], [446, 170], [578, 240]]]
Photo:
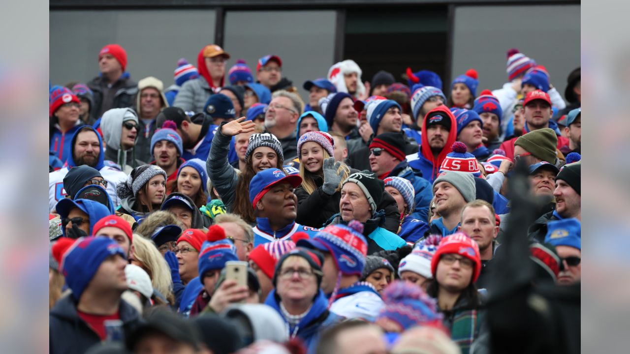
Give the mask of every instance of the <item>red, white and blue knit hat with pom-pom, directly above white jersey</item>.
[[363, 274], [365, 257], [367, 256], [367, 241], [363, 236], [363, 224], [357, 220], [348, 225], [332, 224], [324, 227], [312, 239], [301, 239], [297, 246], [319, 249], [330, 253], [337, 268], [343, 275]]

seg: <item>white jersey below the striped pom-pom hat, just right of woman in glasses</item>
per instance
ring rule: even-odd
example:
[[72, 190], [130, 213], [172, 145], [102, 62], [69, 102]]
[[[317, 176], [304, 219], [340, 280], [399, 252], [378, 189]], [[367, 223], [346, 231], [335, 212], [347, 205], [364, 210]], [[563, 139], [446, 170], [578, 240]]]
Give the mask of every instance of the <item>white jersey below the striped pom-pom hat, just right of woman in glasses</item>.
[[362, 291], [336, 300], [330, 306], [330, 312], [347, 319], [362, 318], [374, 322], [384, 305], [379, 295]]

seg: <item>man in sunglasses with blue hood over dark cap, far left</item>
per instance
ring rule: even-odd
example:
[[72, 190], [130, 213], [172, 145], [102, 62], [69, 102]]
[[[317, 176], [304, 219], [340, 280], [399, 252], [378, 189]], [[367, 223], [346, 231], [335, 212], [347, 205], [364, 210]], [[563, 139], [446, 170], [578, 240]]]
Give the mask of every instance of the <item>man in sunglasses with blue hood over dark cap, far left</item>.
[[92, 234], [92, 229], [98, 220], [112, 212], [105, 205], [89, 199], [62, 199], [55, 209], [61, 217], [61, 231], [63, 237], [77, 239]]

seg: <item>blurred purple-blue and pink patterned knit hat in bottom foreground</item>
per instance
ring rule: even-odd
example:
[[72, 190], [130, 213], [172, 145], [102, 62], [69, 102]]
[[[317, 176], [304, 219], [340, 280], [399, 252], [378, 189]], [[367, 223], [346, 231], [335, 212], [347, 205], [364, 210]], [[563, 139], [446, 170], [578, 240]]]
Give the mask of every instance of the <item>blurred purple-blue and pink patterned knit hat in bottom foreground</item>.
[[383, 291], [384, 306], [377, 318], [399, 324], [403, 331], [415, 326], [440, 326], [442, 314], [437, 303], [418, 285], [396, 280]]

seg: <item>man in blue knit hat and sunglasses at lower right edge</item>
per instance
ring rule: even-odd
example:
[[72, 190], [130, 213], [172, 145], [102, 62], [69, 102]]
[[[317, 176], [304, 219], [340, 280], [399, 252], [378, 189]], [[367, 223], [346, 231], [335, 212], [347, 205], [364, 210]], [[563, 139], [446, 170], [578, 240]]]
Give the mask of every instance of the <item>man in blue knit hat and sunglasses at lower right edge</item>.
[[569, 218], [550, 221], [547, 224], [545, 243], [556, 247], [564, 269], [558, 273], [559, 285], [580, 282], [581, 274], [581, 224], [578, 219]]

